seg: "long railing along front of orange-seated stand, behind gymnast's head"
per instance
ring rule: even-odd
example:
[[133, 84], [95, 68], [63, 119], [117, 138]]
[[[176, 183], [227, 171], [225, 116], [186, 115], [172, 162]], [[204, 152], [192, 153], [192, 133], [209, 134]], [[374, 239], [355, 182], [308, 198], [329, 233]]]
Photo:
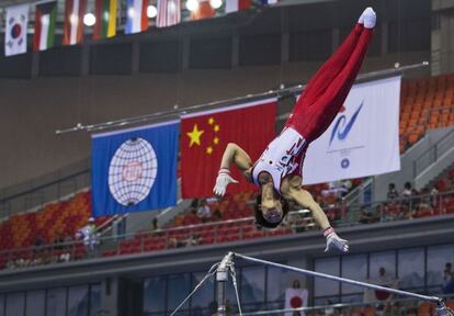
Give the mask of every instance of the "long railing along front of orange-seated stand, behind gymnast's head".
[[[355, 226], [411, 221], [425, 216], [454, 214], [454, 191], [395, 199], [367, 205], [334, 205], [325, 207], [333, 226]], [[274, 236], [304, 234], [316, 229], [308, 210], [291, 212], [276, 229], [256, 227], [253, 217], [206, 224], [144, 230], [113, 237], [95, 237], [84, 245], [82, 240], [0, 251], [0, 269], [67, 262], [99, 257], [112, 257], [164, 249], [198, 247], [220, 242], [251, 240]]]

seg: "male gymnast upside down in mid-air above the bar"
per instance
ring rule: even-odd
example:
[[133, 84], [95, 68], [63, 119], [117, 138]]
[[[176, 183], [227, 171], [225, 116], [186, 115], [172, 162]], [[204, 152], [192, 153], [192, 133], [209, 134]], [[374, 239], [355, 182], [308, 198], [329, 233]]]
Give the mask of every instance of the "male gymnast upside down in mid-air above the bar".
[[350, 35], [307, 83], [284, 129], [253, 165], [238, 145], [227, 145], [213, 190], [217, 196], [224, 196], [229, 183], [238, 183], [229, 174], [234, 162], [248, 181], [261, 189], [261, 203], [256, 210], [259, 225], [276, 227], [287, 213], [286, 202], [294, 201], [309, 208], [324, 230], [325, 251], [349, 251], [348, 240], [336, 234], [320, 205], [302, 189], [303, 162], [310, 142], [324, 134], [345, 101], [372, 41], [375, 22], [374, 10], [365, 9]]

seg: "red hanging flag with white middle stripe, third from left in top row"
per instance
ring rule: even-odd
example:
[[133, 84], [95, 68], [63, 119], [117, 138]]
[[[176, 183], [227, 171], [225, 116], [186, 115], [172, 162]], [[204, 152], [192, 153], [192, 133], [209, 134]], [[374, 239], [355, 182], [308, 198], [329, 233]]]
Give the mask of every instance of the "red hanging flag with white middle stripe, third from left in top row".
[[76, 45], [83, 41], [83, 15], [87, 0], [66, 0], [63, 45]]

